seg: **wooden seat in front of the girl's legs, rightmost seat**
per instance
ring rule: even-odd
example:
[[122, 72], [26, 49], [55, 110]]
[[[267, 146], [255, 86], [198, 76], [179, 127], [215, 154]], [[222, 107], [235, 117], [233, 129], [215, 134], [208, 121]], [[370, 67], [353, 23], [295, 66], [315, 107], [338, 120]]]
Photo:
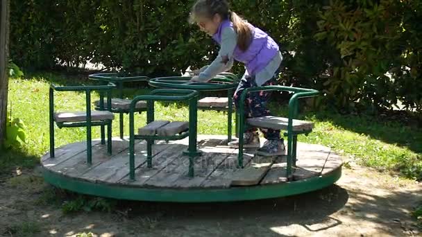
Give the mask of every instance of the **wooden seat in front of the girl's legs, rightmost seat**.
[[[289, 119], [276, 116], [263, 116], [247, 119], [247, 123], [253, 127], [271, 128], [274, 130], [287, 130]], [[293, 120], [293, 130], [295, 132], [310, 131], [314, 128], [314, 123], [302, 120]]]

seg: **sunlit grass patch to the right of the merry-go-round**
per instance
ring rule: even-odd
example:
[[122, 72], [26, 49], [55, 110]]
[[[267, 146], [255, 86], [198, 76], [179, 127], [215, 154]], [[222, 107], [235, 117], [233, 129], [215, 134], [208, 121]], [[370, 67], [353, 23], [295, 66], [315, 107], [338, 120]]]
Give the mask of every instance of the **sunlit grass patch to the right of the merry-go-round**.
[[[276, 109], [277, 110], [277, 109]], [[287, 115], [278, 109], [277, 114]], [[299, 141], [330, 146], [341, 155], [380, 171], [400, 171], [422, 179], [422, 130], [365, 115], [305, 112], [299, 119], [314, 121], [314, 131]]]

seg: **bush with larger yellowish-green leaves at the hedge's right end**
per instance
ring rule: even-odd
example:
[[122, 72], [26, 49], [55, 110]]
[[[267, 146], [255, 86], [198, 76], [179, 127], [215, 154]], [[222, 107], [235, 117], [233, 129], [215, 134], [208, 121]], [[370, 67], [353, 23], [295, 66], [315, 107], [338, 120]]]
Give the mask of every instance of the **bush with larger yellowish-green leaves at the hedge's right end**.
[[318, 84], [336, 107], [392, 108], [400, 99], [422, 111], [422, 87], [416, 82], [422, 76], [421, 6], [334, 0], [323, 7], [315, 37], [335, 47], [339, 58], [328, 67], [330, 77]]

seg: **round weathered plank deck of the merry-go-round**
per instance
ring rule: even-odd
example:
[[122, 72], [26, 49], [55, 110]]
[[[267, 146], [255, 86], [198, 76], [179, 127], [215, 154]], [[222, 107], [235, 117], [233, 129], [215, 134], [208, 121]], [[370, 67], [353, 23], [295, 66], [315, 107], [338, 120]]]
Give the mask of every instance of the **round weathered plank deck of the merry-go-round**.
[[[226, 146], [225, 136], [198, 137], [203, 152], [195, 161], [195, 176], [187, 177], [188, 158], [183, 155], [188, 140], [158, 142], [153, 146], [153, 168], [146, 168], [146, 143], [135, 141], [135, 181], [128, 178], [128, 139], [113, 139], [113, 155], [107, 146], [93, 142], [92, 165], [87, 165], [86, 144], [72, 143], [56, 148], [56, 157], [42, 157], [42, 166], [53, 173], [85, 182], [137, 188], [230, 188], [232, 186], [271, 185], [286, 182], [285, 157], [277, 160], [244, 153], [244, 169], [238, 169], [238, 150]], [[264, 141], [262, 141], [264, 142]], [[294, 180], [331, 173], [341, 168], [341, 157], [330, 148], [298, 143]]]

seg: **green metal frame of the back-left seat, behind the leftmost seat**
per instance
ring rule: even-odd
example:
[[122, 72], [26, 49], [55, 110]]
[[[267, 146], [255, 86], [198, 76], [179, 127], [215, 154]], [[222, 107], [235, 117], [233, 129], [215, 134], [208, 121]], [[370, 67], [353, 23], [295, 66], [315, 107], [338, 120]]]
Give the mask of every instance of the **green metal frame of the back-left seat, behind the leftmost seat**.
[[[126, 82], [140, 82], [140, 81], [149, 81], [147, 76], [121, 76], [119, 73], [94, 73], [88, 76], [91, 80], [99, 80], [101, 82], [112, 82], [117, 85], [118, 97], [123, 98], [123, 89], [124, 83]], [[101, 103], [102, 100], [100, 100]], [[101, 107], [96, 107], [97, 110], [101, 110]], [[144, 112], [145, 109], [136, 109], [137, 112]], [[124, 137], [124, 116], [123, 114], [128, 113], [128, 109], [115, 109], [112, 108], [111, 112], [119, 114], [119, 128], [120, 128], [120, 138]]]

